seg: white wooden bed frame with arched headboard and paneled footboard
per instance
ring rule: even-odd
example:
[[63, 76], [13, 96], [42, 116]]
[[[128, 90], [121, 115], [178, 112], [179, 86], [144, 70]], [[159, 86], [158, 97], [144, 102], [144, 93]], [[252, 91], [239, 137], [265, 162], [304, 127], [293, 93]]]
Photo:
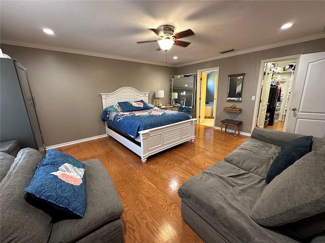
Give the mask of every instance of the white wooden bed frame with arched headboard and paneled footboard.
[[[132, 87], [122, 87], [112, 93], [101, 93], [103, 109], [118, 102], [143, 100], [148, 103], [149, 92], [141, 92]], [[175, 112], [175, 111], [174, 111]], [[148, 156], [186, 141], [194, 142], [194, 128], [197, 119], [190, 118], [174, 124], [139, 131], [138, 142], [125, 134], [113, 129], [105, 121], [106, 133], [122, 145], [132, 150], [141, 157], [142, 163], [146, 163]]]

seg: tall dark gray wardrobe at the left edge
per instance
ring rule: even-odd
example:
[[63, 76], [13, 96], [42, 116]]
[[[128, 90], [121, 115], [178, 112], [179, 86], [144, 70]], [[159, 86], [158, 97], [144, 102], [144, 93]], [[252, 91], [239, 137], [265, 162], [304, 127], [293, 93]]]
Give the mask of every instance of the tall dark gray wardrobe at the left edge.
[[45, 153], [26, 69], [16, 60], [0, 58], [0, 138], [18, 140], [20, 148]]

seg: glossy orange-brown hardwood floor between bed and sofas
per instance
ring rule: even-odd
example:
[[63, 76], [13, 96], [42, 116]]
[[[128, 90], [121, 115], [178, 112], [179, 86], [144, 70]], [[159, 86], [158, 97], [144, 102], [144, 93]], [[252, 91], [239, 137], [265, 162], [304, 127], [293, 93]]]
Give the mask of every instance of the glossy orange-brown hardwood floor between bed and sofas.
[[146, 164], [111, 137], [57, 150], [80, 161], [91, 158], [102, 161], [123, 202], [126, 243], [199, 243], [203, 240], [181, 217], [178, 188], [190, 177], [223, 160], [247, 138], [196, 125], [194, 143], [186, 142], [149, 157]]

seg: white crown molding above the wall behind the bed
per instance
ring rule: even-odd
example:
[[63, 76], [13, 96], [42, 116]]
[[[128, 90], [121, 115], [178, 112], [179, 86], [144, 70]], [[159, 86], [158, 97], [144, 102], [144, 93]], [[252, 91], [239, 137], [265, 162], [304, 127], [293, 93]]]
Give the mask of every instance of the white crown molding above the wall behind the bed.
[[[93, 56], [93, 57], [102, 57], [102, 58], [116, 59], [116, 60], [129, 61], [129, 62], [140, 62], [140, 63], [146, 63], [152, 65], [166, 66], [165, 63], [149, 62], [149, 61], [140, 60], [136, 58], [120, 57], [120, 56], [114, 56], [114, 55], [103, 54], [98, 52], [88, 52], [88, 51], [82, 51], [78, 49], [71, 49], [71, 48], [64, 48], [64, 47], [54, 47], [54, 46], [43, 45], [38, 43], [20, 42], [20, 41], [14, 41], [13, 39], [1, 39], [0, 43], [12, 45], [12, 46], [29, 47], [29, 48], [43, 49], [43, 50], [56, 51], [56, 52], [66, 52], [66, 53], [80, 54], [80, 55]], [[176, 67], [176, 65], [168, 65], [168, 66]]]

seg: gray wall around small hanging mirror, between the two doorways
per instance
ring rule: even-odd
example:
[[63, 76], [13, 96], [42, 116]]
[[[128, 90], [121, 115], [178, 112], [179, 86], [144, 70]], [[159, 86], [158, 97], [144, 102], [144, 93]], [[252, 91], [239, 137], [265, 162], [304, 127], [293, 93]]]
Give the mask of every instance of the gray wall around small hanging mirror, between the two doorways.
[[[216, 127], [220, 127], [220, 120], [225, 118], [243, 121], [242, 132], [251, 133], [255, 101], [252, 96], [256, 95], [259, 67], [262, 60], [276, 59], [298, 54], [307, 54], [325, 51], [325, 38], [303, 42], [264, 51], [258, 51], [213, 61], [177, 67], [177, 74], [197, 73], [200, 69], [219, 67], [219, 82], [216, 110]], [[228, 74], [246, 73], [243, 83], [242, 102], [226, 101], [228, 93]], [[256, 97], [258, 99], [258, 97]], [[241, 113], [223, 111], [223, 107], [231, 103], [242, 108]]]

